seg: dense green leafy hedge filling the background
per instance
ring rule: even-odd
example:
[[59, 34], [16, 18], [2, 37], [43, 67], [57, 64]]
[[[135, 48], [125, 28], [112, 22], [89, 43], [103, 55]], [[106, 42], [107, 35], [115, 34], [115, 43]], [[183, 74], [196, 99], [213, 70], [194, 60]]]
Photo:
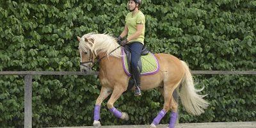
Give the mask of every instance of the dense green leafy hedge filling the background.
[[[118, 36], [124, 27], [127, 1], [0, 1], [0, 70], [78, 71], [76, 36], [90, 32]], [[143, 0], [150, 51], [173, 54], [191, 70], [255, 70], [256, 1]], [[211, 105], [188, 122], [256, 120], [256, 76], [196, 75]], [[92, 125], [99, 95], [97, 76], [34, 76], [33, 127]], [[102, 125], [150, 124], [163, 107], [157, 90], [123, 95], [116, 108], [130, 115], [115, 119], [102, 104]], [[24, 125], [24, 78], [0, 76], [0, 127]], [[165, 116], [161, 124], [168, 124]]]

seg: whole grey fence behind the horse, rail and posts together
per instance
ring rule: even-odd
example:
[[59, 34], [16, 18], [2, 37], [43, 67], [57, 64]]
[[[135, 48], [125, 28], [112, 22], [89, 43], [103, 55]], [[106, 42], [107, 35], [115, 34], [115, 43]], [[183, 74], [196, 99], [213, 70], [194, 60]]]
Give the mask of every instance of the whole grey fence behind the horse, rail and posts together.
[[[219, 70], [192, 70], [192, 74], [241, 74], [241, 75], [255, 75], [256, 71], [219, 71]], [[46, 75], [46, 76], [62, 76], [62, 75], [97, 75], [98, 72], [51, 72], [51, 71], [5, 71], [0, 72], [1, 75], [19, 75], [25, 76], [24, 85], [24, 128], [32, 128], [32, 76]], [[177, 92], [173, 93], [173, 97], [178, 102]], [[179, 102], [178, 102], [179, 104]], [[179, 121], [178, 121], [179, 122]]]

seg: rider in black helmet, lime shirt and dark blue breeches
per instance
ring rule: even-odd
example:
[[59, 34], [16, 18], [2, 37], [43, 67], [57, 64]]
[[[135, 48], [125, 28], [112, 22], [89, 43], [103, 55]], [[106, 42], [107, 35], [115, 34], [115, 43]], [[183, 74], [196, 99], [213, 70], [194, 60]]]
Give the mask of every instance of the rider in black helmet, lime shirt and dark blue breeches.
[[140, 70], [138, 69], [138, 60], [140, 60], [141, 49], [144, 45], [145, 35], [145, 16], [139, 10], [141, 0], [129, 0], [129, 13], [125, 17], [124, 31], [118, 36], [117, 40], [120, 42], [124, 36], [128, 35], [125, 40], [120, 42], [120, 45], [127, 44], [131, 51], [131, 73], [135, 80], [134, 95], [141, 95], [140, 92]]

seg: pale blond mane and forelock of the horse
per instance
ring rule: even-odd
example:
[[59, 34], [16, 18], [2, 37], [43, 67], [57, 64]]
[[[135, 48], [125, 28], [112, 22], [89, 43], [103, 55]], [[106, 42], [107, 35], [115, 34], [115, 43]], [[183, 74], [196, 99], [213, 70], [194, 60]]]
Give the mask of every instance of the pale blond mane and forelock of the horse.
[[[88, 42], [85, 42], [84, 38], [87, 38]], [[91, 51], [95, 52], [96, 56], [98, 56], [98, 54], [101, 52], [105, 52], [108, 56], [115, 56], [117, 58], [120, 58], [122, 54], [119, 46], [120, 45], [117, 44], [113, 36], [105, 33], [88, 33], [86, 35], [83, 35], [81, 37], [81, 41], [79, 42], [80, 49], [82, 49], [83, 51], [86, 51], [86, 48], [90, 49]], [[119, 48], [116, 49], [117, 47]], [[116, 50], [113, 51], [114, 49]]]

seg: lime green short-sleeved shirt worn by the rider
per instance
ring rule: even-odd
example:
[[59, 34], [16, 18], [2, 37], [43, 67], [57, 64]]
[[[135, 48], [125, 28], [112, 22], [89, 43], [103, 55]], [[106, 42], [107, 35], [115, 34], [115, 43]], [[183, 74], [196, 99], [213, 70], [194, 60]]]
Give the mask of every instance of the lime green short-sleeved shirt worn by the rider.
[[127, 28], [128, 28], [127, 38], [129, 38], [129, 36], [133, 35], [137, 31], [137, 24], [143, 24], [143, 29], [141, 31], [140, 36], [138, 36], [138, 38], [130, 40], [129, 42], [141, 42], [141, 44], [144, 44], [144, 38], [145, 38], [144, 37], [145, 36], [144, 14], [140, 10], [135, 15], [132, 15], [132, 12], [127, 13], [125, 17], [125, 24], [127, 24]]

